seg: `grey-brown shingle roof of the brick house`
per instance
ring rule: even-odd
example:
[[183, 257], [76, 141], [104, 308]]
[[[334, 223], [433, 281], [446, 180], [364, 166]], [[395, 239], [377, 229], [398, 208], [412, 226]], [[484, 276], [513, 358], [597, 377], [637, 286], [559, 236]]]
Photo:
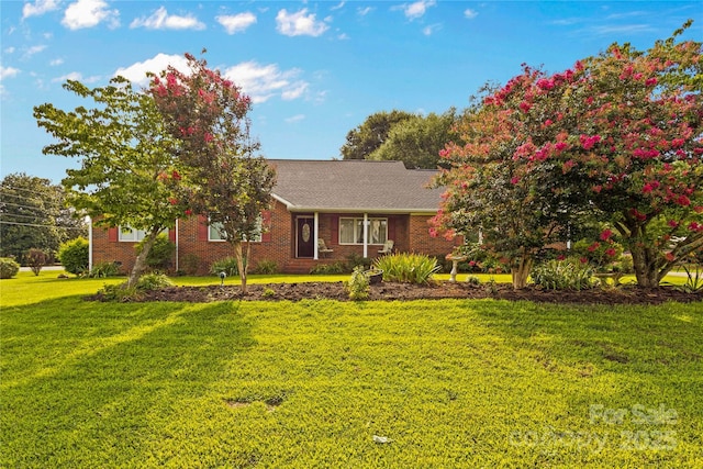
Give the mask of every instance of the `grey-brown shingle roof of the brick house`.
[[443, 189], [426, 186], [433, 170], [402, 161], [270, 159], [274, 197], [291, 212], [436, 212]]

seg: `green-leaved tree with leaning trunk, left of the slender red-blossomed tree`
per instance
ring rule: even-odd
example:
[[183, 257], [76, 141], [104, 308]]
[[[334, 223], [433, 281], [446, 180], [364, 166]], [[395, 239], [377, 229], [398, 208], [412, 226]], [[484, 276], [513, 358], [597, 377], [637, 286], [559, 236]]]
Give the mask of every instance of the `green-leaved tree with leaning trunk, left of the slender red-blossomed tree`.
[[174, 139], [152, 97], [133, 90], [125, 78], [94, 89], [68, 80], [64, 88], [96, 107], [69, 112], [51, 103], [35, 107], [37, 124], [58, 139], [44, 154], [80, 159], [80, 168], [68, 169], [62, 183], [69, 203], [96, 225], [146, 232], [127, 281], [133, 287], [156, 236], [189, 211], [187, 201], [177, 198], [185, 181]]

